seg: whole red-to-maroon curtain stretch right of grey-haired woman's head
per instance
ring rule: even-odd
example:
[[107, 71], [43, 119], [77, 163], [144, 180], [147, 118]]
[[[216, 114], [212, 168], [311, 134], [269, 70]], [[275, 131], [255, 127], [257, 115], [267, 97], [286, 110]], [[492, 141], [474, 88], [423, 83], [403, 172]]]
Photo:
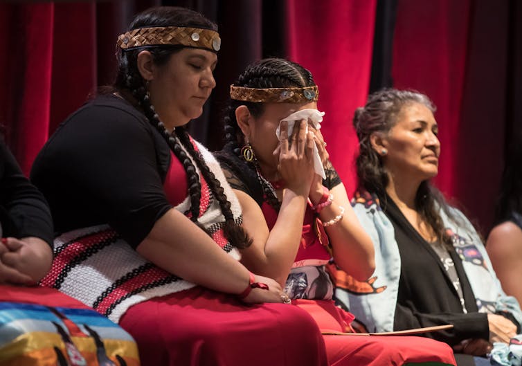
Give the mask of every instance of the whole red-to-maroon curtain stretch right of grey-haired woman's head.
[[[515, 2], [516, 3], [516, 2]], [[510, 5], [511, 4], [511, 5]], [[517, 24], [509, 1], [399, 0], [394, 86], [429, 95], [438, 107], [442, 154], [435, 184], [487, 235], [503, 170]], [[511, 9], [512, 10], [512, 9]], [[512, 66], [510, 69], [509, 66]]]

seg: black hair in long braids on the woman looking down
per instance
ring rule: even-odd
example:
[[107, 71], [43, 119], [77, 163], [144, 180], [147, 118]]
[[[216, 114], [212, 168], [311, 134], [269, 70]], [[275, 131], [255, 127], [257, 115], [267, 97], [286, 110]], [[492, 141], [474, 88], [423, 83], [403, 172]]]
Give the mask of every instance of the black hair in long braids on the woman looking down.
[[[136, 15], [134, 21], [132, 21], [132, 24], [129, 26], [129, 30], [150, 26], [186, 26], [217, 31], [217, 26], [198, 12], [174, 6], [159, 6], [145, 10], [145, 12]], [[152, 55], [154, 64], [158, 66], [165, 65], [170, 59], [170, 56], [180, 51], [181, 48], [183, 48], [181, 45], [146, 47], [147, 51]], [[143, 77], [141, 77], [138, 71], [137, 57], [138, 53], [143, 51], [143, 49], [144, 48], [121, 50], [118, 57], [118, 74], [114, 82], [114, 88], [120, 91], [125, 98], [131, 99], [129, 100], [130, 102], [134, 102], [135, 105], [137, 102], [138, 105], [136, 107], [143, 109], [145, 116], [152, 126], [165, 138], [170, 149], [174, 152], [174, 155], [183, 164], [187, 176], [188, 193], [190, 194], [190, 219], [192, 222], [205, 230], [198, 222], [201, 202], [201, 182], [199, 181], [199, 174], [182, 147], [188, 151], [196, 162], [197, 167], [208, 183], [208, 187], [219, 203], [219, 207], [225, 217], [223, 229], [228, 241], [237, 248], [249, 246], [252, 240], [246, 235], [243, 228], [235, 223], [231, 203], [226, 198], [221, 183], [219, 183], [213, 172], [208, 168], [208, 165], [206, 165], [204, 158], [196, 151], [190, 142], [190, 137], [186, 129], [184, 127], [177, 127], [172, 134], [170, 134], [156, 113], [150, 101], [145, 80], [143, 80]], [[132, 97], [130, 95], [132, 95]], [[135, 100], [132, 100], [132, 98]]]

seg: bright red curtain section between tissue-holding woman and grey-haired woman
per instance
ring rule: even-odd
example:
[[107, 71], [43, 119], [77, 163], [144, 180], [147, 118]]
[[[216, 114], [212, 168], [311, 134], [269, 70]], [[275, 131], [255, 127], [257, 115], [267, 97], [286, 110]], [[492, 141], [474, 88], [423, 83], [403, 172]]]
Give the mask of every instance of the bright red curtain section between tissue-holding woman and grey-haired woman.
[[314, 74], [326, 112], [321, 131], [350, 194], [359, 145], [352, 118], [368, 96], [376, 3], [287, 0], [287, 55]]

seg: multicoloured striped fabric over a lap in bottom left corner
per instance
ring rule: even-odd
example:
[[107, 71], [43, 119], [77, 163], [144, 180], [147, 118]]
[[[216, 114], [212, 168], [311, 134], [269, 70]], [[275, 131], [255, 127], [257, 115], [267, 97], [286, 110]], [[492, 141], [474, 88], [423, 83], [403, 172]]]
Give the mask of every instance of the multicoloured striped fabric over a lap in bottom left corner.
[[0, 285], [1, 366], [139, 366], [132, 336], [54, 289]]

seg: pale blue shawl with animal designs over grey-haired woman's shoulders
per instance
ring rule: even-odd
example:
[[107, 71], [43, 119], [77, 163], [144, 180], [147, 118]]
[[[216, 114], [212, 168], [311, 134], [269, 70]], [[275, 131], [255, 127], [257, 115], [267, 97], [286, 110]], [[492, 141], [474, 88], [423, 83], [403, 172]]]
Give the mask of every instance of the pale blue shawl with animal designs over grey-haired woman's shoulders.
[[[370, 280], [359, 282], [343, 271], [330, 266], [335, 278], [335, 297], [341, 306], [350, 309], [370, 331], [393, 331], [401, 259], [395, 230], [382, 212], [377, 196], [357, 193], [352, 200], [355, 213], [375, 245], [376, 270]], [[494, 313], [506, 311], [521, 323], [522, 312], [518, 302], [503, 292], [482, 241], [462, 212], [450, 208], [458, 225], [440, 210], [444, 226], [453, 241], [453, 247], [462, 260], [476, 298], [478, 311]]]

